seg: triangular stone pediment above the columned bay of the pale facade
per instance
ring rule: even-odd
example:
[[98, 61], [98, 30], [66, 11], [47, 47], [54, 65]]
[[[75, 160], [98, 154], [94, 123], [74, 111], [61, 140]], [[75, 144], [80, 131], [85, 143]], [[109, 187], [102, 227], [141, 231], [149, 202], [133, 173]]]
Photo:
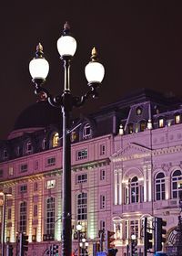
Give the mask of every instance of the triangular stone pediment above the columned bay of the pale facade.
[[[122, 149], [119, 149], [114, 155], [111, 156], [111, 160], [114, 161], [117, 158], [141, 158], [151, 155], [151, 149], [141, 144], [130, 143]], [[133, 157], [132, 157], [133, 156]]]

